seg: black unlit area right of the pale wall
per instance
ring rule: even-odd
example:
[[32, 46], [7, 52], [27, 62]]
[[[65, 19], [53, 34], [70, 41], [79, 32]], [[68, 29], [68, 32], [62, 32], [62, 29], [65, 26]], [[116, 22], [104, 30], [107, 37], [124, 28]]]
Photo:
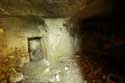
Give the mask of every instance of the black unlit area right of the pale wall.
[[[114, 21], [113, 16], [116, 17]], [[120, 13], [107, 12], [79, 21], [81, 57], [94, 61], [107, 76], [125, 76], [125, 25], [121, 19]], [[122, 83], [118, 77], [111, 77], [111, 80]]]

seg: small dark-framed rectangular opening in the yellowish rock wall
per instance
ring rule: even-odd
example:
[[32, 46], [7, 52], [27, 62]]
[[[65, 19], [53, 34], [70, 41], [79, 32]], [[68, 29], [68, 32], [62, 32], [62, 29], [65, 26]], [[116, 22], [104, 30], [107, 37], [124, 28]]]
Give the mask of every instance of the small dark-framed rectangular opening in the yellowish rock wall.
[[41, 48], [41, 37], [28, 38], [30, 61], [39, 61], [43, 59]]

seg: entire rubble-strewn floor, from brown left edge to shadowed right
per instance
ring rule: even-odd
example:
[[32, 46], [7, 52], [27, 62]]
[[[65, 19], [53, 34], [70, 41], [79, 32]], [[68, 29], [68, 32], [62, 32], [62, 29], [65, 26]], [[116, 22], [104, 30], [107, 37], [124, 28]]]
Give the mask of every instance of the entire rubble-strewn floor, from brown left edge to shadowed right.
[[[12, 72], [13, 71], [13, 72]], [[60, 57], [55, 64], [43, 59], [11, 72], [0, 71], [0, 83], [123, 83], [122, 77], [105, 74], [103, 68], [87, 57]]]

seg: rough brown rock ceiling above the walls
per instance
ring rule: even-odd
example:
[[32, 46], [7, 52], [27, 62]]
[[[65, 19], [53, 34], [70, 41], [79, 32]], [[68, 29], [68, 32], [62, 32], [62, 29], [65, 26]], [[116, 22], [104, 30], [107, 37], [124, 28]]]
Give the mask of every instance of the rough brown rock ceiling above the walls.
[[[0, 15], [67, 17], [81, 10], [91, 11], [96, 5], [100, 8], [98, 4], [102, 6], [104, 1], [106, 0], [0, 0]], [[91, 4], [94, 5], [91, 7]]]

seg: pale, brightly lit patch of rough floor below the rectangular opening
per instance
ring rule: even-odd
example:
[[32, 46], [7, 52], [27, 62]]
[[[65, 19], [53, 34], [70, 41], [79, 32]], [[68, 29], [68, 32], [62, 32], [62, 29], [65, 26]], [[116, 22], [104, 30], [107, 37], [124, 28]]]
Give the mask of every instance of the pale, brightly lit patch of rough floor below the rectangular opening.
[[72, 58], [62, 57], [55, 64], [45, 59], [27, 64], [22, 70], [22, 83], [86, 83], [80, 68]]

